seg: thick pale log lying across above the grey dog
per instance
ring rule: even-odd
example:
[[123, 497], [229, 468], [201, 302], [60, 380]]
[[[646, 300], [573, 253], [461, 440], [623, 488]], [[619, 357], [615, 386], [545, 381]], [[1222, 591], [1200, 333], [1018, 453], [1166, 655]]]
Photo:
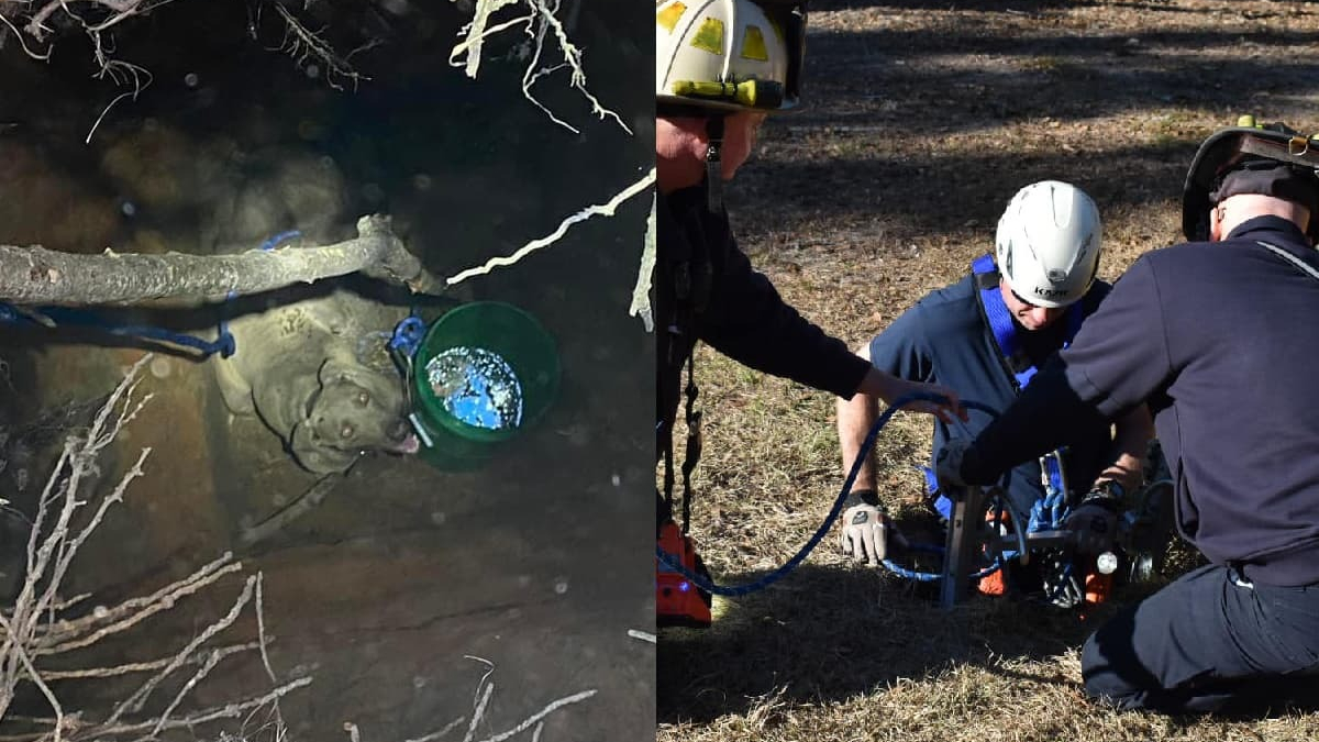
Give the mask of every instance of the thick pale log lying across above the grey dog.
[[357, 219], [357, 238], [338, 244], [240, 255], [102, 255], [55, 252], [40, 246], [0, 246], [0, 301], [83, 306], [194, 301], [260, 293], [297, 283], [363, 272], [417, 293], [443, 293], [381, 215]]

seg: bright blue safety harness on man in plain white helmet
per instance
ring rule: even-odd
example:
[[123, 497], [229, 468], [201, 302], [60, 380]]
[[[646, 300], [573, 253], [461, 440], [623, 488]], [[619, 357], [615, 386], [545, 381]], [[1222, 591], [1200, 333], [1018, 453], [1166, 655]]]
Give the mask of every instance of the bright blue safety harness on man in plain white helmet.
[[[1012, 320], [1012, 312], [1002, 301], [1002, 290], [998, 288], [1000, 275], [992, 255], [981, 255], [971, 263], [971, 273], [976, 281], [976, 294], [980, 300], [980, 314], [985, 326], [993, 335], [995, 346], [1004, 368], [1013, 378], [1013, 391], [1021, 393], [1038, 368], [1030, 362], [1026, 350], [1018, 335], [1017, 323]], [[1082, 322], [1086, 321], [1083, 301], [1072, 302], [1063, 318], [1064, 335], [1062, 347], [1071, 345]], [[1057, 528], [1067, 515], [1067, 477], [1062, 466], [1062, 455], [1066, 449], [1058, 449], [1041, 457], [1039, 465], [1043, 473], [1045, 498], [1035, 500], [1030, 508], [1030, 524], [1028, 532]], [[948, 519], [952, 516], [952, 500], [939, 492], [939, 482], [934, 471], [921, 467], [925, 473], [926, 491], [934, 510]]]

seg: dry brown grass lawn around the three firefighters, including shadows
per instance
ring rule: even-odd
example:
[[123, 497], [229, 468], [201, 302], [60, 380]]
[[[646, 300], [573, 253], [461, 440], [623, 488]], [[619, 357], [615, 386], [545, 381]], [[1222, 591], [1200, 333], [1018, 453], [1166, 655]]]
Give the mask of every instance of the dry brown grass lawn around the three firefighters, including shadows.
[[[1095, 195], [1113, 279], [1181, 239], [1182, 180], [1207, 133], [1241, 112], [1319, 124], [1312, 4], [1012, 5], [813, 4], [811, 107], [765, 127], [729, 199], [753, 261], [853, 347], [992, 250], [1028, 182]], [[692, 533], [716, 580], [741, 584], [787, 560], [842, 485], [834, 400], [708, 349], [696, 367]], [[902, 512], [929, 429], [900, 415], [880, 440], [884, 498]], [[1115, 603], [1084, 618], [1001, 599], [944, 614], [930, 597], [851, 568], [830, 539], [778, 586], [716, 598], [712, 628], [660, 636], [658, 739], [1319, 738], [1312, 712], [1169, 718], [1086, 702], [1079, 646]]]

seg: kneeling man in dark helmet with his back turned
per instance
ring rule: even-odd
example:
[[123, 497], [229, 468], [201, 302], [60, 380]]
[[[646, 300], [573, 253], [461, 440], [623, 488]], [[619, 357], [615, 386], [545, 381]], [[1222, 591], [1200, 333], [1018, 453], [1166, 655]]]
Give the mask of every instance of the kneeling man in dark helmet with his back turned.
[[[1191, 164], [1192, 242], [1136, 260], [1016, 404], [936, 458], [944, 487], [988, 483], [1075, 420], [1149, 405], [1210, 564], [1086, 642], [1086, 693], [1120, 709], [1236, 710], [1319, 673], [1319, 139], [1244, 123]], [[1112, 532], [1103, 499], [1074, 518]]]

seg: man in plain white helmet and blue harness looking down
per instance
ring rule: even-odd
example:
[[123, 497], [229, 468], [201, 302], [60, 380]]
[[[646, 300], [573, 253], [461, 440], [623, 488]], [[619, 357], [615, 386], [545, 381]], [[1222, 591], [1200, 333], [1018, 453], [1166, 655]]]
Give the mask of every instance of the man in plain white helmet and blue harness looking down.
[[[971, 272], [950, 287], [934, 290], [857, 350], [872, 366], [904, 379], [939, 382], [963, 399], [1004, 409], [1026, 388], [1037, 368], [1066, 347], [1109, 292], [1096, 280], [1101, 251], [1099, 207], [1086, 191], [1041, 181], [1017, 191], [995, 235], [997, 263], [989, 255], [975, 260]], [[876, 400], [855, 395], [838, 403], [838, 432], [843, 471], [849, 471], [867, 433], [878, 416]], [[988, 416], [975, 415], [971, 430]], [[1116, 425], [1079, 426], [1066, 450], [1043, 462], [1028, 461], [1013, 469], [1006, 485], [1012, 510], [1029, 514], [1050, 490], [1067, 498], [1067, 485], [1107, 490], [1116, 498], [1134, 492], [1153, 425], [1141, 405]], [[938, 449], [948, 428], [935, 425]], [[931, 454], [933, 458], [933, 454]], [[1064, 477], [1066, 473], [1066, 477]], [[1054, 481], [1042, 477], [1053, 475]], [[927, 470], [927, 481], [933, 475]], [[944, 519], [951, 502], [927, 482], [930, 503]], [[1025, 524], [1020, 524], [1025, 527]], [[872, 461], [863, 461], [842, 518], [840, 543], [856, 561], [877, 564], [886, 551], [885, 518], [876, 491]], [[1005, 586], [995, 573], [983, 591]], [[1058, 580], [1051, 580], [1059, 584]], [[1079, 580], [1058, 590], [1054, 601], [1075, 605], [1083, 595]]]

